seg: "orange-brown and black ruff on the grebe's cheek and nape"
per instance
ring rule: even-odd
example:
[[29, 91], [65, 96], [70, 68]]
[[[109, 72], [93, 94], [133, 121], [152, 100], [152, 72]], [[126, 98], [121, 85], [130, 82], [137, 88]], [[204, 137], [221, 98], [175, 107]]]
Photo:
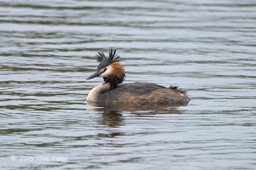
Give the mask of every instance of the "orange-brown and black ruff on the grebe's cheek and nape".
[[119, 62], [111, 63], [111, 73], [107, 77], [103, 77], [104, 82], [109, 82], [111, 89], [116, 88], [118, 84], [122, 84], [125, 79], [123, 66]]

